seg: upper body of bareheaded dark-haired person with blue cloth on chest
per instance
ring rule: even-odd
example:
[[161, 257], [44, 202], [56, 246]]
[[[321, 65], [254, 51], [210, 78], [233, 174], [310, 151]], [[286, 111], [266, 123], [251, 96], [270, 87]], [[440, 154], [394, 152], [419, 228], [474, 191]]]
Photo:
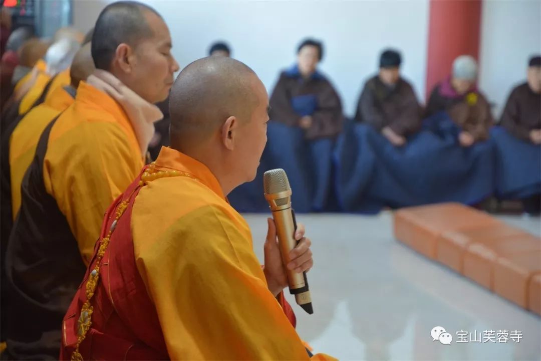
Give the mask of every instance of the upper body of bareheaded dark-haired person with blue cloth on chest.
[[319, 41], [303, 41], [296, 64], [282, 71], [271, 96], [271, 120], [304, 129], [307, 139], [334, 137], [342, 129], [340, 97], [317, 69], [322, 58]]

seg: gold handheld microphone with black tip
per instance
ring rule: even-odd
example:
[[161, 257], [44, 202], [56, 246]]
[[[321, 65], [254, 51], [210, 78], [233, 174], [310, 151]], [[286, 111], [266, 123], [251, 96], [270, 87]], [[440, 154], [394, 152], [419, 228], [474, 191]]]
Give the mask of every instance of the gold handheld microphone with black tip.
[[[295, 222], [295, 213], [291, 208], [291, 186], [287, 179], [286, 172], [283, 169], [267, 170], [263, 174], [263, 189], [265, 190], [265, 199], [271, 206], [274, 224], [276, 225], [276, 234], [278, 235], [278, 245], [284, 266], [291, 261], [289, 252], [296, 247], [295, 231], [297, 228]], [[287, 268], [287, 281], [289, 284], [289, 293], [295, 295], [296, 303], [309, 314], [314, 313], [312, 308], [312, 298], [308, 290], [308, 279], [306, 272], [297, 273]]]

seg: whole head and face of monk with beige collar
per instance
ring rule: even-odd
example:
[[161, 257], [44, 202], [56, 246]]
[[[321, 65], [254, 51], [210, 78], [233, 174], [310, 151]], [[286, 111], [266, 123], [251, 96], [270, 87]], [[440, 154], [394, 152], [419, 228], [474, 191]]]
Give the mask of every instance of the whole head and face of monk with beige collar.
[[107, 70], [144, 100], [165, 100], [179, 70], [171, 55], [171, 36], [154, 9], [120, 1], [103, 9], [92, 37], [97, 69]]

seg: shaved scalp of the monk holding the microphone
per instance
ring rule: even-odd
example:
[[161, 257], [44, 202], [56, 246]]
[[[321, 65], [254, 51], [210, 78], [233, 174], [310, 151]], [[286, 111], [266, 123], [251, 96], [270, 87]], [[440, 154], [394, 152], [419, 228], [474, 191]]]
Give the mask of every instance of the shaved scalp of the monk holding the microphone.
[[258, 87], [263, 85], [254, 71], [232, 58], [206, 57], [189, 64], [169, 96], [171, 145], [182, 150], [206, 141], [230, 116], [249, 121], [258, 106]]

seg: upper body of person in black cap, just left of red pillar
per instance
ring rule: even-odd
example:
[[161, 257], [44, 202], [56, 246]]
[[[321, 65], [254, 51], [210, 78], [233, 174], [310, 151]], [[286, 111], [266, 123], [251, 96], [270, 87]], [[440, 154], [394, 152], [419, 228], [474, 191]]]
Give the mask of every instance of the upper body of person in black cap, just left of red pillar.
[[421, 111], [410, 83], [400, 77], [400, 53], [381, 53], [379, 74], [365, 83], [357, 105], [355, 122], [370, 124], [394, 146], [406, 143], [421, 123]]

